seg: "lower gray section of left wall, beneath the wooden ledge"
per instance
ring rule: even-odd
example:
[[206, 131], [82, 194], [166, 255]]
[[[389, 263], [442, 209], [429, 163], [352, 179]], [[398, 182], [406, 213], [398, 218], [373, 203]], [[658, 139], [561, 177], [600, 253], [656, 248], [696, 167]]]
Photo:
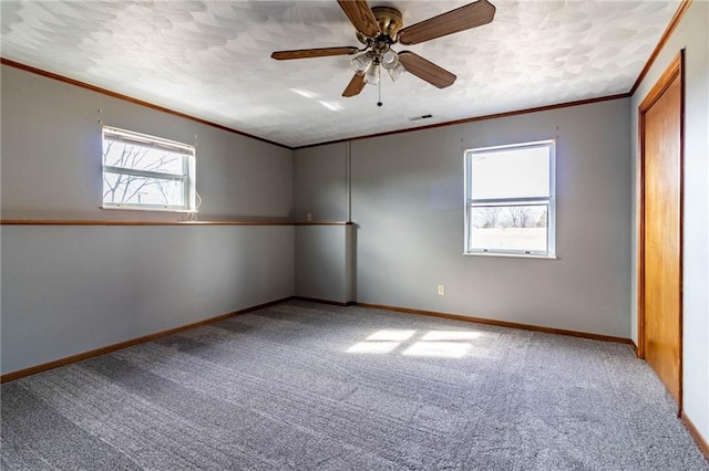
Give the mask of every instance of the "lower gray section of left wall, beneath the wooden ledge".
[[2, 227], [2, 373], [291, 296], [294, 228]]

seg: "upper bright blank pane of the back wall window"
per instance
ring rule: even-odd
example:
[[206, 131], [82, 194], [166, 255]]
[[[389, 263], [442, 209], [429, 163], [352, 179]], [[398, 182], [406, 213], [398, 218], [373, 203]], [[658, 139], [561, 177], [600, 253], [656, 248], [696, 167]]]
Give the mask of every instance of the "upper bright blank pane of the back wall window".
[[549, 146], [471, 155], [472, 199], [549, 196]]

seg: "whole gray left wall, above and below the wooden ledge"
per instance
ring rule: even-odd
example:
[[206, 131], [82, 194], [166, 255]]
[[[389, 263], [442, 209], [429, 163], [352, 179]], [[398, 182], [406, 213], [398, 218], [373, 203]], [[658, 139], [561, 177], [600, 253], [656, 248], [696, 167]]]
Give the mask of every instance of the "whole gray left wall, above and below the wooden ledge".
[[[199, 219], [290, 219], [291, 150], [13, 67], [1, 73], [3, 219], [181, 219], [99, 209], [100, 121], [196, 144]], [[2, 374], [295, 289], [291, 226], [2, 226], [0, 238]]]

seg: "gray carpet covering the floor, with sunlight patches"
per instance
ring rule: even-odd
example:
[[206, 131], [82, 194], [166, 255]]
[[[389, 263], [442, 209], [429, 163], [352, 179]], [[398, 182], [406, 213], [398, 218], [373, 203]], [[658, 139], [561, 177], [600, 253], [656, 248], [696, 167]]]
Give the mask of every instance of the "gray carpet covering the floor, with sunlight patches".
[[709, 470], [627, 345], [299, 301], [1, 402], [2, 469]]

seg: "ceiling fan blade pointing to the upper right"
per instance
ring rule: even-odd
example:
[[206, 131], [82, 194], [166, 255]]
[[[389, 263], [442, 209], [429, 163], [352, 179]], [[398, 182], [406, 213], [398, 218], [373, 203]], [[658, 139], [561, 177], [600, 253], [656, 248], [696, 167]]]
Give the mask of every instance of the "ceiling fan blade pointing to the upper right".
[[407, 45], [418, 44], [487, 24], [494, 17], [495, 7], [487, 0], [477, 0], [402, 29], [399, 31], [399, 42]]

